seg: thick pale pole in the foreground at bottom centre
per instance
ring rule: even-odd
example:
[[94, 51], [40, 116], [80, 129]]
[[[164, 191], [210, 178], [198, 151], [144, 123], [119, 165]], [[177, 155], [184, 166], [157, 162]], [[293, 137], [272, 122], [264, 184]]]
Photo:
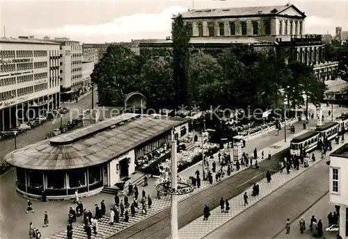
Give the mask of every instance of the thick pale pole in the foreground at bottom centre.
[[179, 238], [179, 229], [177, 226], [177, 149], [176, 140], [171, 140], [172, 150], [171, 150], [171, 163], [172, 163], [172, 200], [171, 200], [171, 236], [173, 239]]

